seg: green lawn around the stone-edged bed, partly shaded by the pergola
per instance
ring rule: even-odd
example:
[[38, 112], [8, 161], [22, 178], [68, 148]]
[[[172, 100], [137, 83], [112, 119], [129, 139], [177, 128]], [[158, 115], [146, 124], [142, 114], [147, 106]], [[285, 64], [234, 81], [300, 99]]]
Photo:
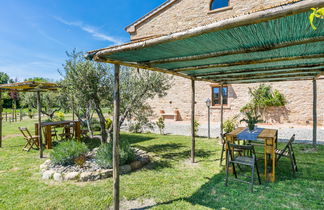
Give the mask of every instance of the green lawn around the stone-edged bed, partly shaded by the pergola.
[[[31, 121], [27, 122], [32, 128]], [[5, 124], [4, 135], [18, 133], [18, 124]], [[215, 139], [197, 139], [196, 164], [188, 161], [189, 137], [123, 133], [121, 139], [148, 151], [154, 159], [145, 169], [121, 176], [121, 200], [153, 199], [153, 209], [321, 209], [324, 205], [323, 146], [313, 151], [310, 145], [294, 145], [300, 170], [297, 176], [291, 175], [289, 161], [282, 159], [277, 181], [263, 181], [251, 193], [243, 183], [230, 181], [228, 187], [224, 186], [224, 168], [218, 162], [221, 147]], [[111, 206], [112, 179], [90, 183], [44, 181], [39, 165], [45, 160], [38, 158], [38, 151], [21, 151], [23, 144], [21, 137], [12, 136], [0, 149], [0, 209]]]

